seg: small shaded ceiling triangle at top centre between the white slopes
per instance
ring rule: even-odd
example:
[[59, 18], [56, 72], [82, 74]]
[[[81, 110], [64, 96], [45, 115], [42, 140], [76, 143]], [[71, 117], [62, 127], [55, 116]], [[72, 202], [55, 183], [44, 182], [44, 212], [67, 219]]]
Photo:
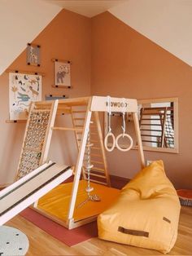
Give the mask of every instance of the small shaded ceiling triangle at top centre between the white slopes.
[[94, 17], [109, 10], [111, 7], [116, 7], [129, 0], [44, 0], [59, 7], [63, 7], [69, 11], [74, 11], [78, 14], [85, 15], [89, 18]]

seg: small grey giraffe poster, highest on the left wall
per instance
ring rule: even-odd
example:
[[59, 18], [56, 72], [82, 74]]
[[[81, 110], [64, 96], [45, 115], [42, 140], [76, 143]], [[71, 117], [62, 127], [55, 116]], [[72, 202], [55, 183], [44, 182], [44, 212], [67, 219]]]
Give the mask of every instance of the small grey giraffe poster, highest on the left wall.
[[27, 64], [38, 67], [40, 66], [40, 46], [28, 43]]

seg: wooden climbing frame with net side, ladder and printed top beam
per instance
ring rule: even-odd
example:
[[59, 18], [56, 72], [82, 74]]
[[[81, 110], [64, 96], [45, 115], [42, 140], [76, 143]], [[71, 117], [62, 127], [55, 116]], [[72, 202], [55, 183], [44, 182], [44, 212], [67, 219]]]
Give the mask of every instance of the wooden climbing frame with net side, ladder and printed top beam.
[[[111, 97], [111, 112], [131, 113], [135, 127], [139, 160], [141, 166], [145, 166], [145, 158], [142, 150], [142, 139], [139, 130], [137, 117], [137, 100], [121, 99]], [[62, 223], [68, 228], [78, 227], [84, 223], [93, 221], [97, 216], [86, 217], [85, 219], [74, 219], [76, 210], [76, 197], [80, 179], [87, 180], [88, 173], [85, 168], [85, 156], [87, 148], [91, 147], [91, 169], [89, 171], [90, 181], [98, 183], [109, 189], [106, 193], [110, 195], [110, 178], [107, 168], [107, 157], [103, 145], [103, 131], [101, 128], [99, 113], [107, 112], [107, 97], [91, 96], [76, 99], [57, 99], [55, 101], [42, 101], [32, 104], [28, 122], [24, 134], [24, 143], [20, 155], [16, 179], [24, 177], [35, 170], [38, 166], [45, 164], [50, 148], [50, 139], [53, 132], [57, 130], [72, 131], [76, 137], [76, 147], [78, 156], [76, 166], [73, 168], [74, 179], [72, 183], [71, 199], [68, 204], [67, 219]], [[70, 115], [72, 126], [55, 126], [55, 118], [58, 115]], [[89, 145], [87, 144], [88, 134], [90, 136]], [[35, 162], [35, 164], [33, 163]], [[32, 165], [31, 165], [31, 164]], [[106, 189], [105, 188], [105, 189]], [[97, 203], [99, 205], [99, 203]], [[97, 207], [98, 207], [97, 205]], [[41, 210], [38, 201], [34, 204], [34, 209], [50, 217], [45, 210]], [[56, 217], [53, 217], [57, 221]], [[60, 220], [58, 220], [61, 223]]]

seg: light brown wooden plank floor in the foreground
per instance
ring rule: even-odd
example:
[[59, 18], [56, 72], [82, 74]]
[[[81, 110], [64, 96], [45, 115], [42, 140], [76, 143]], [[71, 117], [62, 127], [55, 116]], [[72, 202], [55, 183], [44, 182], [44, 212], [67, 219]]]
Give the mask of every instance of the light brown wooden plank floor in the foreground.
[[[28, 236], [30, 247], [27, 256], [49, 255], [162, 255], [155, 250], [141, 249], [129, 245], [120, 245], [101, 241], [98, 238], [89, 239], [78, 245], [68, 247], [46, 232], [34, 226], [20, 215], [12, 218], [7, 226], [16, 227]], [[192, 255], [192, 207], [182, 207], [177, 243], [167, 255]]]

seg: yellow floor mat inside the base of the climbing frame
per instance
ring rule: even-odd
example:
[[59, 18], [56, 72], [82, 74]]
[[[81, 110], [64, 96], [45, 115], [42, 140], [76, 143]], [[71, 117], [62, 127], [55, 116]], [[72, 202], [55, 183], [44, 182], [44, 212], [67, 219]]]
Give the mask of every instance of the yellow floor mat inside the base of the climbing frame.
[[[47, 216], [52, 216], [60, 222], [66, 222], [68, 220], [68, 210], [72, 195], [72, 184], [73, 183], [63, 183], [58, 187], [54, 188], [42, 196], [38, 201], [37, 209], [41, 210]], [[90, 187], [94, 188], [94, 191], [90, 194], [97, 194], [101, 201], [93, 202], [88, 201], [85, 205], [78, 208], [85, 199], [87, 198], [87, 192], [85, 188], [87, 187], [87, 182], [81, 180], [79, 183], [78, 193], [76, 197], [76, 207], [74, 211], [74, 221], [79, 221], [81, 219], [98, 216], [106, 210], [120, 195], [120, 190], [116, 188], [109, 188], [98, 183], [90, 183]]]

